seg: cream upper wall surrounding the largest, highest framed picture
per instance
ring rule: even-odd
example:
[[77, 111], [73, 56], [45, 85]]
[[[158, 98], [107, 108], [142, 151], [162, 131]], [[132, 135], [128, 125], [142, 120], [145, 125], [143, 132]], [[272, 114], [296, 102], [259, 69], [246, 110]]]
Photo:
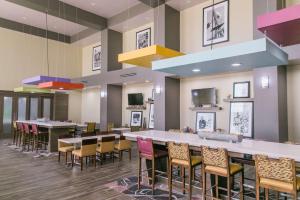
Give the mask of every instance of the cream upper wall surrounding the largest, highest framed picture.
[[[220, 2], [218, 0], [216, 2]], [[209, 50], [202, 47], [203, 8], [210, 6], [206, 1], [180, 12], [180, 49], [184, 53]], [[252, 0], [230, 0], [229, 42], [214, 45], [214, 48], [253, 39]]]

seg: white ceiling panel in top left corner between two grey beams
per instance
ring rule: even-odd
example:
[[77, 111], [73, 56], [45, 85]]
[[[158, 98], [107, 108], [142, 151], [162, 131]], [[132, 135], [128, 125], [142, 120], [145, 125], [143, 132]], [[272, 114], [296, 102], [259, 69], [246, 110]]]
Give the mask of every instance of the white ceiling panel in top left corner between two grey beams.
[[[10, 3], [5, 0], [0, 0], [0, 17], [46, 29], [45, 13]], [[87, 27], [48, 15], [48, 29], [66, 35], [74, 35], [87, 29]]]

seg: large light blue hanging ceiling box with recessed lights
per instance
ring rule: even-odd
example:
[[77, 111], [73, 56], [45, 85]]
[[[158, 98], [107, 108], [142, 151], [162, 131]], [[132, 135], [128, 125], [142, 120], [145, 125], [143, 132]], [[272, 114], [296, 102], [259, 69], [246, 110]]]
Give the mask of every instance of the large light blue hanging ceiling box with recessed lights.
[[288, 64], [288, 54], [267, 38], [154, 61], [152, 70], [180, 77], [249, 71]]

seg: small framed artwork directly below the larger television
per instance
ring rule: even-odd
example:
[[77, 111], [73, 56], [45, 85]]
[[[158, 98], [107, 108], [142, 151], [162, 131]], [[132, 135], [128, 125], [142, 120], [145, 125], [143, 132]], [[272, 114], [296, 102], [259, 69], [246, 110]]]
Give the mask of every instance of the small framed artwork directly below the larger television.
[[196, 113], [196, 131], [213, 132], [216, 129], [215, 112], [197, 112]]

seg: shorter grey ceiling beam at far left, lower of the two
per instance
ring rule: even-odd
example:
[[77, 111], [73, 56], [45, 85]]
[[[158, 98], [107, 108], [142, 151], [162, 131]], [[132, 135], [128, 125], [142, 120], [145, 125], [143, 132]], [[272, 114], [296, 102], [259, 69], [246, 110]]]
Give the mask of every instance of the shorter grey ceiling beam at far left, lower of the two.
[[39, 36], [39, 37], [43, 37], [43, 38], [48, 37], [51, 40], [56, 40], [56, 41], [65, 42], [65, 43], [71, 43], [71, 37], [68, 35], [64, 35], [64, 34], [49, 31], [49, 30], [47, 33], [47, 31], [45, 29], [37, 28], [37, 27], [30, 26], [27, 24], [22, 24], [22, 23], [11, 21], [11, 20], [4, 19], [4, 18], [0, 18], [0, 27], [6, 28], [6, 29], [11, 29], [14, 31], [22, 32], [22, 33], [35, 35], [35, 36]]

